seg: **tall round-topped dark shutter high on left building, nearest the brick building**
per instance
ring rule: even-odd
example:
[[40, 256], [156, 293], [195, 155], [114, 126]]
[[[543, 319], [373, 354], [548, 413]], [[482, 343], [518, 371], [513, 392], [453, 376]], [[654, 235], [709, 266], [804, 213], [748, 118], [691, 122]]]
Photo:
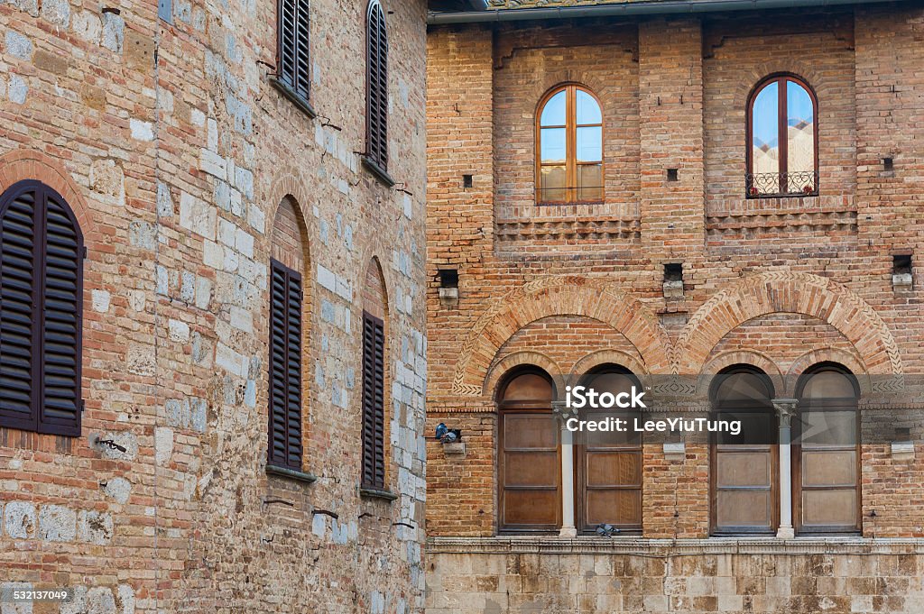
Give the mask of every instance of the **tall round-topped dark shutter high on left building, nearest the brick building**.
[[367, 155], [383, 171], [388, 168], [388, 32], [378, 0], [369, 5], [366, 26]]

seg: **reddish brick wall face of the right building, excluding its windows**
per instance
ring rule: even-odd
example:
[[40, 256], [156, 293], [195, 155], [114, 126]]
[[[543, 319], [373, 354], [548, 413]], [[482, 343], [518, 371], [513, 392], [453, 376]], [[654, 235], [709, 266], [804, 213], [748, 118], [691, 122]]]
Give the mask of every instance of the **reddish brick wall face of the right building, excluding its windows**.
[[[737, 362], [797, 376], [826, 360], [857, 373], [921, 374], [920, 277], [916, 269], [911, 288], [894, 287], [892, 259], [921, 247], [924, 211], [913, 185], [924, 171], [924, 79], [914, 67], [922, 24], [924, 7], [910, 2], [431, 28], [427, 423], [431, 432], [445, 422], [467, 433], [464, 457], [428, 442], [432, 536], [496, 532], [494, 394], [517, 365], [558, 369], [559, 383], [609, 362], [642, 376], [710, 374]], [[781, 71], [808, 79], [819, 96], [821, 196], [745, 199], [748, 92]], [[561, 82], [582, 83], [602, 100], [602, 205], [536, 207], [535, 113]], [[883, 170], [884, 157], [894, 158], [894, 171]], [[667, 180], [672, 168], [678, 181]], [[462, 175], [473, 175], [473, 187]], [[682, 295], [665, 296], [667, 262], [683, 263]], [[457, 300], [439, 297], [444, 268], [459, 272]], [[794, 379], [779, 392], [793, 394]], [[913, 460], [865, 444], [862, 464], [863, 536], [924, 536], [919, 444]], [[688, 444], [682, 462], [645, 447], [645, 537], [708, 536], [709, 467], [705, 446]], [[517, 601], [498, 602], [474, 584], [496, 561], [454, 554], [477, 551], [464, 541], [452, 548], [431, 560], [461, 583], [432, 584], [436, 612], [916, 611], [920, 601], [868, 603], [846, 581], [799, 584], [794, 572], [793, 587], [783, 587], [755, 572], [752, 589], [703, 585], [687, 596], [660, 578], [639, 579], [657, 583], [643, 593], [650, 601], [625, 606], [607, 599], [638, 591], [610, 580], [548, 587], [548, 575], [517, 576], [497, 591]], [[804, 561], [794, 553], [766, 560]], [[738, 573], [725, 584], [746, 583]], [[904, 582], [881, 591], [901, 593]], [[777, 589], [787, 597], [771, 596]], [[474, 601], [453, 601], [472, 591]], [[578, 600], [585, 592], [590, 601]]]

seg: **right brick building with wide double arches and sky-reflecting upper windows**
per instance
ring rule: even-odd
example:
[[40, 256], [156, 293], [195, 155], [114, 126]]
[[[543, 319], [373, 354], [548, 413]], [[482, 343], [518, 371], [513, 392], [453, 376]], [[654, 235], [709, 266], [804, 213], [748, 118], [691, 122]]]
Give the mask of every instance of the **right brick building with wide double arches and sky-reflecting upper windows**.
[[[428, 33], [427, 611], [924, 611], [924, 4], [470, 4]], [[568, 439], [588, 379], [764, 439]]]

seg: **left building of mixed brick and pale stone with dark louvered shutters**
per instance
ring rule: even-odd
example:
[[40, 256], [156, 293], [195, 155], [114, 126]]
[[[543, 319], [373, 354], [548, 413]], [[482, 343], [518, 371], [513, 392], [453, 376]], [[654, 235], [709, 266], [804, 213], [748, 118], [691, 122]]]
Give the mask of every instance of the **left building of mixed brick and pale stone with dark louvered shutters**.
[[0, 588], [422, 610], [425, 15], [0, 4]]

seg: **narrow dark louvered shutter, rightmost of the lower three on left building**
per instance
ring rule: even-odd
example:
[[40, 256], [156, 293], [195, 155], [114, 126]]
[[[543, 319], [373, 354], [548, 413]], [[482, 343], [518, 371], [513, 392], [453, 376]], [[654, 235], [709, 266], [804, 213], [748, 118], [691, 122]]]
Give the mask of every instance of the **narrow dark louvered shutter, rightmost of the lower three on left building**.
[[385, 485], [385, 330], [362, 313], [362, 486]]

